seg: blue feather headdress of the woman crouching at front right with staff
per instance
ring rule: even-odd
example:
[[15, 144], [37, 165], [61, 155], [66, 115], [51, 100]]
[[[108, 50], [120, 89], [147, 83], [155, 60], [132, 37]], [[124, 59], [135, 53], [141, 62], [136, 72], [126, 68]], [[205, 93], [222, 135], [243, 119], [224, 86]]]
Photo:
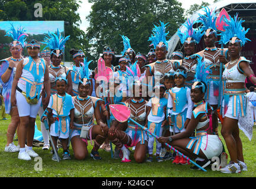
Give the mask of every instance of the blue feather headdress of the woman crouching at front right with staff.
[[[197, 67], [196, 67], [196, 73], [194, 78], [195, 83], [193, 83], [192, 89], [202, 87], [202, 91], [205, 93], [206, 87], [208, 86], [208, 82], [209, 82], [208, 75], [210, 73], [212, 73], [212, 70], [210, 69], [210, 66], [205, 67], [205, 61], [202, 61], [202, 57], [197, 59]], [[200, 82], [204, 82], [206, 85]], [[198, 83], [200, 84], [197, 85]]]

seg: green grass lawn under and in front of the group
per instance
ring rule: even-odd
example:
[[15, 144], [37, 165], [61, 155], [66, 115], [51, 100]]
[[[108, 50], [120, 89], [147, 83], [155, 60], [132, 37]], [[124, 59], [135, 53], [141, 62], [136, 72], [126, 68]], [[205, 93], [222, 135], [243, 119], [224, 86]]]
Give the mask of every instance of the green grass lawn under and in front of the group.
[[[122, 163], [121, 159], [112, 159], [111, 153], [102, 149], [99, 149], [101, 161], [94, 161], [90, 157], [83, 161], [77, 161], [73, 157], [72, 148], [70, 148], [72, 160], [55, 162], [51, 160], [50, 150], [43, 151], [41, 147], [33, 148], [43, 159], [43, 170], [35, 171], [34, 165], [37, 162], [34, 161], [34, 158], [31, 161], [22, 161], [18, 159], [18, 152], [8, 153], [4, 151], [7, 141], [7, 127], [10, 121], [10, 117], [7, 118], [8, 120], [0, 120], [0, 177], [255, 177], [256, 175], [256, 139], [253, 137], [252, 141], [249, 141], [243, 132], [240, 135], [248, 171], [241, 172], [241, 174], [222, 174], [210, 169], [207, 172], [195, 171], [190, 170], [191, 165], [173, 165], [171, 161], [156, 162], [155, 159], [152, 163], [137, 164], [134, 161], [133, 152], [130, 155], [131, 162]], [[37, 119], [37, 125], [40, 130], [39, 119]], [[254, 128], [254, 136], [255, 131]], [[224, 141], [222, 136], [220, 138]], [[18, 141], [14, 143], [17, 145]], [[90, 142], [88, 149], [89, 152], [92, 149]], [[60, 149], [60, 156], [62, 152]]]

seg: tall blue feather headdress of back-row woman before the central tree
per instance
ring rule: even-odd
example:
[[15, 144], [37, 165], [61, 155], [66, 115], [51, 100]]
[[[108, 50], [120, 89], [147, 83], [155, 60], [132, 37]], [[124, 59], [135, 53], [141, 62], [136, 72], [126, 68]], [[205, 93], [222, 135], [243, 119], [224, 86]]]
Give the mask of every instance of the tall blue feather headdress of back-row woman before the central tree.
[[166, 28], [168, 26], [167, 24], [164, 24], [164, 22], [160, 21], [160, 25], [156, 26], [154, 25], [154, 28], [152, 30], [153, 34], [151, 34], [151, 37], [148, 38], [148, 41], [151, 41], [151, 45], [154, 45], [154, 48], [156, 47], [166, 47], [166, 50], [168, 50], [168, 41], [166, 40], [166, 37], [169, 32], [166, 33]]

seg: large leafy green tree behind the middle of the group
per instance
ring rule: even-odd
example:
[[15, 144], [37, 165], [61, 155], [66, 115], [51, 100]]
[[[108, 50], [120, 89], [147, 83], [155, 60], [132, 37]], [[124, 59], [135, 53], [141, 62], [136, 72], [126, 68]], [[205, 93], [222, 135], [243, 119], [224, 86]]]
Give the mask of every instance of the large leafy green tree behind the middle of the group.
[[148, 38], [154, 24], [169, 23], [169, 36], [184, 22], [184, 9], [176, 0], [89, 0], [92, 11], [86, 34], [93, 45], [96, 58], [104, 47], [113, 48], [116, 54], [124, 49], [122, 38], [130, 39], [136, 53], [148, 53], [151, 47]]

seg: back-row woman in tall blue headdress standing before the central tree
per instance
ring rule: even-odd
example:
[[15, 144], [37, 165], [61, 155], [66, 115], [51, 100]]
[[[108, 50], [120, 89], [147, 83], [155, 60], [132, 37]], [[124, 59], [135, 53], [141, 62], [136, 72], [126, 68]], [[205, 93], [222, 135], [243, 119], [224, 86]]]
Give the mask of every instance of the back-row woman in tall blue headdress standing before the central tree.
[[160, 80], [160, 83], [163, 83], [164, 74], [170, 70], [174, 70], [173, 64], [166, 58], [168, 50], [168, 41], [166, 40], [168, 32], [166, 33], [166, 29], [167, 24], [160, 21], [159, 26], [154, 25], [152, 30], [153, 34], [151, 34], [151, 37], [148, 39], [148, 41], [151, 41], [154, 45], [155, 55], [157, 57], [157, 61], [147, 65], [148, 68], [145, 74], [147, 80], [151, 76], [154, 78], [151, 80], [151, 83], [148, 83], [149, 86], [154, 86], [154, 83], [156, 82], [155, 79], [158, 79], [158, 81]]

